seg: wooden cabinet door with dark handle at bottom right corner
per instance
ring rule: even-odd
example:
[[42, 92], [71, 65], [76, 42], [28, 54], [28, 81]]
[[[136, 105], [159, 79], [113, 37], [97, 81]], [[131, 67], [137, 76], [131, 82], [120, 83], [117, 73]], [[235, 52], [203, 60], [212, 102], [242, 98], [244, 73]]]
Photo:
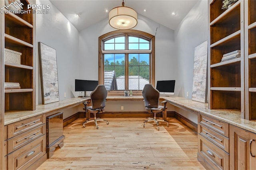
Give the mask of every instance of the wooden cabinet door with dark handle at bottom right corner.
[[255, 170], [256, 134], [230, 125], [230, 170]]

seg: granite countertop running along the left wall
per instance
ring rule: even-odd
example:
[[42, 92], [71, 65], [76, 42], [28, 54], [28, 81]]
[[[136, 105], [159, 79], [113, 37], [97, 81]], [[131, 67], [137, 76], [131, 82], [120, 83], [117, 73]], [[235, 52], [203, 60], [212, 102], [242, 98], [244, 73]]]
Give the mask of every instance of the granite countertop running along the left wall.
[[74, 105], [76, 103], [81, 103], [88, 99], [90, 99], [90, 97], [85, 99], [75, 97], [64, 101], [49, 103], [46, 105], [36, 105], [36, 110], [34, 111], [8, 111], [4, 113], [4, 125], [9, 125], [11, 123], [28, 119], [30, 117], [41, 115], [50, 111], [54, 111], [56, 109], [61, 109], [63, 107]]

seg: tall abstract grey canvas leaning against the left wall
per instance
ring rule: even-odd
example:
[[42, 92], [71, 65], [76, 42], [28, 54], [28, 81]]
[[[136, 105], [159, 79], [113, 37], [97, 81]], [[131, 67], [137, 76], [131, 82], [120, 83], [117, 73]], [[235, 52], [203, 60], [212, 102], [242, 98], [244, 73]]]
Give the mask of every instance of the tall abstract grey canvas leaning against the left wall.
[[59, 101], [56, 49], [38, 42], [42, 104]]

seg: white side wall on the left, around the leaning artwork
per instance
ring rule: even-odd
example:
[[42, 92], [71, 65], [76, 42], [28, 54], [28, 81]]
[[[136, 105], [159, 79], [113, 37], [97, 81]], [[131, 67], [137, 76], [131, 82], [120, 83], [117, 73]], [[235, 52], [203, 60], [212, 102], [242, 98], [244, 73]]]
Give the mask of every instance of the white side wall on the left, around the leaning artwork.
[[[79, 32], [49, 0], [36, 0], [36, 4], [50, 4], [49, 14], [36, 14], [36, 43], [42, 42], [56, 49], [60, 101], [75, 97], [74, 77], [80, 74]], [[38, 44], [36, 54], [36, 104], [42, 104]]]

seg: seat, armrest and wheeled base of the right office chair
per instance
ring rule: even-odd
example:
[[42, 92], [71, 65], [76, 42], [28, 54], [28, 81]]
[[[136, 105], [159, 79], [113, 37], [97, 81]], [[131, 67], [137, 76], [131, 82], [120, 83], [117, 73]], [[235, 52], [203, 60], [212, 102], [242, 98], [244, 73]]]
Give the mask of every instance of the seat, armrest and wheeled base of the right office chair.
[[[162, 119], [156, 119], [156, 113], [160, 113], [162, 112], [166, 112], [167, 107], [166, 107], [166, 103], [167, 101], [163, 101], [162, 103], [164, 103], [164, 106], [158, 106], [158, 108], [146, 108], [148, 113], [154, 113], [154, 118], [149, 117], [146, 121], [144, 121], [143, 127], [145, 127], [145, 123], [149, 123], [149, 122], [154, 122], [157, 125], [157, 130], [159, 131], [159, 122], [164, 122], [166, 123], [166, 126], [169, 127], [169, 122], [166, 120], [162, 120]], [[166, 114], [166, 113], [161, 113], [161, 114]]]

